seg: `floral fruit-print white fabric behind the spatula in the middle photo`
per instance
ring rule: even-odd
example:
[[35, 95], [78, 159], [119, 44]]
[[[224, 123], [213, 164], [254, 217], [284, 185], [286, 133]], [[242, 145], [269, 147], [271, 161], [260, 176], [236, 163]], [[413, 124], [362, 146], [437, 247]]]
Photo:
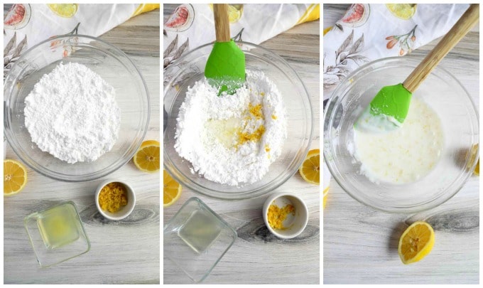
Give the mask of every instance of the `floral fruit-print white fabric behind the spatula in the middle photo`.
[[[235, 41], [259, 44], [293, 26], [320, 16], [319, 4], [229, 4]], [[215, 41], [212, 4], [182, 4], [164, 21], [165, 68], [187, 52]]]

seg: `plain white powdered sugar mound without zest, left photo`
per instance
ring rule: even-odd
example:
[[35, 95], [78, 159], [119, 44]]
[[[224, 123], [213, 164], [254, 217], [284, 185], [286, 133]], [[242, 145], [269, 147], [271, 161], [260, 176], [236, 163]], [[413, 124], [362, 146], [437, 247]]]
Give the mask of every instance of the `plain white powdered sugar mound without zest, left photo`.
[[121, 122], [114, 88], [77, 63], [60, 63], [25, 98], [25, 126], [38, 148], [74, 164], [114, 146]]

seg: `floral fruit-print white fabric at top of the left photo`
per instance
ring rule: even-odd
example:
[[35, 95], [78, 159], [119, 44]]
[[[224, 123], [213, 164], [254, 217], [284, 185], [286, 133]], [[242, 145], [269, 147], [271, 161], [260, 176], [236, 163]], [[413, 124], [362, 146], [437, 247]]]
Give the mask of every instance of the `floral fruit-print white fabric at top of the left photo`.
[[20, 55], [53, 36], [99, 36], [159, 4], [13, 4], [4, 14], [4, 78]]

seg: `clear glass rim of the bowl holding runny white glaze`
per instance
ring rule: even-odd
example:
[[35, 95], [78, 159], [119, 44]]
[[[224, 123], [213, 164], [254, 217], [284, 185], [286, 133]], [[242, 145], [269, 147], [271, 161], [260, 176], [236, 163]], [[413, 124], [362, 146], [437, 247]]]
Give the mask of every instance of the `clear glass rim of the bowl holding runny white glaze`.
[[[342, 80], [342, 82], [340, 82], [337, 85], [337, 87], [335, 87], [334, 90], [332, 90], [331, 97], [327, 100], [327, 103], [323, 107], [324, 108], [324, 116], [323, 116], [322, 119], [323, 119], [323, 137], [324, 137], [324, 152], [323, 152], [324, 162], [325, 162], [325, 164], [327, 165], [327, 168], [330, 171], [330, 175], [332, 176], [332, 178], [335, 179], [335, 181], [340, 186], [340, 188], [342, 188], [342, 190], [345, 193], [347, 193], [347, 195], [352, 197], [354, 200], [356, 200], [359, 203], [364, 204], [364, 206], [374, 208], [376, 210], [386, 212], [386, 213], [405, 213], [405, 214], [420, 213], [420, 212], [423, 212], [425, 210], [430, 210], [432, 208], [438, 207], [441, 204], [445, 203], [446, 201], [450, 200], [453, 196], [455, 196], [463, 188], [463, 186], [465, 186], [465, 183], [467, 182], [468, 178], [470, 178], [470, 176], [472, 176], [472, 174], [473, 174], [472, 171], [474, 171], [474, 168], [477, 165], [478, 157], [474, 157], [473, 163], [472, 163], [472, 166], [470, 167], [470, 169], [467, 169], [467, 171], [462, 171], [463, 173], [460, 174], [460, 176], [463, 176], [462, 182], [460, 183], [459, 186], [455, 187], [455, 191], [453, 191], [452, 193], [449, 193], [448, 196], [445, 196], [446, 198], [440, 197], [440, 198], [443, 199], [443, 201], [441, 201], [441, 200], [437, 201], [439, 199], [439, 198], [437, 198], [436, 200], [425, 201], [424, 203], [420, 203], [419, 206], [384, 208], [384, 207], [381, 207], [381, 206], [378, 206], [378, 205], [372, 205], [371, 203], [368, 203], [367, 201], [365, 201], [364, 198], [360, 198], [360, 197], [354, 195], [355, 193], [349, 192], [348, 189], [346, 188], [346, 186], [344, 185], [344, 181], [342, 181], [342, 179], [340, 179], [340, 178], [337, 178], [337, 176], [335, 176], [337, 174], [333, 173], [335, 168], [332, 167], [333, 161], [332, 161], [330, 155], [328, 155], [328, 154], [332, 154], [332, 146], [329, 144], [331, 142], [330, 141], [331, 137], [329, 137], [329, 135], [330, 135], [329, 130], [332, 129], [332, 128], [330, 128], [330, 126], [331, 126], [330, 123], [332, 123], [331, 117], [332, 117], [332, 114], [334, 112], [326, 113], [325, 107], [331, 107], [331, 106], [337, 105], [337, 103], [340, 102], [339, 101], [341, 99], [340, 97], [334, 97], [337, 94], [336, 92], [340, 89], [340, 87], [342, 87], [342, 85], [344, 85], [347, 81], [349, 81], [349, 79], [353, 78], [354, 75], [359, 73], [361, 70], [364, 70], [371, 65], [376, 65], [377, 63], [386, 62], [386, 61], [393, 61], [393, 60], [406, 61], [406, 62], [409, 62], [409, 63], [414, 63], [416, 65], [418, 63], [420, 63], [420, 60], [417, 60], [417, 59], [414, 59], [414, 58], [401, 58], [401, 57], [397, 57], [397, 56], [396, 57], [388, 57], [388, 58], [377, 59], [377, 60], [371, 61], [369, 63], [366, 63], [362, 66], [359, 66], [359, 68], [353, 70], [352, 73], [349, 73], [349, 75], [347, 75], [347, 77], [344, 78], [344, 80]], [[460, 80], [458, 80], [455, 77], [455, 75], [452, 75], [452, 73], [450, 73], [448, 70], [443, 68], [441, 65], [438, 65], [437, 67], [435, 67], [434, 70], [435, 71], [438, 70], [438, 72], [444, 73], [446, 76], [450, 77], [465, 92], [465, 96], [467, 97], [467, 100], [470, 101], [470, 107], [472, 108], [472, 110], [474, 112], [474, 116], [477, 119], [477, 129], [475, 129], [475, 131], [477, 131], [478, 134], [479, 134], [479, 112], [477, 110], [476, 105], [474, 104], [474, 100], [472, 99], [472, 96], [470, 95], [470, 93], [467, 91], [465, 86], [462, 85]], [[337, 100], [335, 98], [337, 98]], [[329, 125], [325, 125], [326, 122]], [[327, 126], [329, 126], [329, 127], [327, 127]], [[479, 140], [478, 140], [478, 143], [479, 143]], [[329, 152], [329, 150], [330, 150], [330, 152]], [[477, 145], [476, 155], [479, 155], [479, 145]]]

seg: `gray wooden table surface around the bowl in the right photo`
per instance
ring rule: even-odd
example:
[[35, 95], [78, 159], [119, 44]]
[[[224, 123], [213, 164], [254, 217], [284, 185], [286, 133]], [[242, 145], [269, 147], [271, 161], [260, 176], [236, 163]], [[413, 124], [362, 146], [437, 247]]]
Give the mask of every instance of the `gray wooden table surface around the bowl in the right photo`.
[[[347, 4], [326, 4], [324, 28], [332, 26]], [[438, 40], [414, 50], [422, 60]], [[479, 26], [442, 60], [479, 107]], [[323, 211], [324, 284], [464, 284], [479, 282], [479, 177], [472, 176], [443, 205], [415, 215], [388, 214], [349, 197], [332, 179]], [[403, 265], [398, 240], [408, 224], [426, 220], [435, 228], [435, 245], [420, 262]]]

